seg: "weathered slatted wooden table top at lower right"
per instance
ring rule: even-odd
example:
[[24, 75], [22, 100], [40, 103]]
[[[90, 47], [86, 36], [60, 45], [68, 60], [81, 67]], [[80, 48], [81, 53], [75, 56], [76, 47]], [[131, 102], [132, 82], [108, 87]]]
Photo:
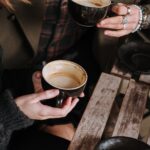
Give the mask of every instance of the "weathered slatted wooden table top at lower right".
[[136, 82], [128, 73], [118, 75], [116, 70], [101, 74], [68, 150], [93, 150], [110, 136], [138, 139], [150, 87]]

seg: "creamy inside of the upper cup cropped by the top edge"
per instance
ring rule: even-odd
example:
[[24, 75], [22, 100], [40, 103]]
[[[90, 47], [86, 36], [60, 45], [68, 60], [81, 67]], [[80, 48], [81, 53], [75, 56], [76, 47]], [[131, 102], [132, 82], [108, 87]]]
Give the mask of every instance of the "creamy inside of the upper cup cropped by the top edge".
[[104, 7], [110, 4], [110, 0], [72, 0], [73, 2], [87, 7]]

